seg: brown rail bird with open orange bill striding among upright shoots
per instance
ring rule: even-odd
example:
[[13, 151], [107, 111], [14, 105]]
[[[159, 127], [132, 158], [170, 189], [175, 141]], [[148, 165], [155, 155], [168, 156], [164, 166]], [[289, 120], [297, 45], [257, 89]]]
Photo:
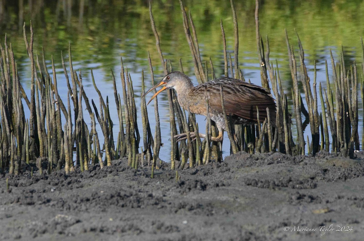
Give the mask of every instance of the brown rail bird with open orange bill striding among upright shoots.
[[[158, 84], [145, 92], [142, 98], [145, 98], [150, 91], [159, 86], [163, 87], [152, 96], [148, 104], [163, 90], [174, 89], [177, 93], [178, 103], [185, 110], [189, 109], [194, 114], [206, 116], [206, 98], [208, 99], [210, 118], [216, 123], [219, 131], [217, 137], [211, 137], [211, 141], [222, 142], [222, 130], [226, 130], [220, 88], [222, 88], [226, 115], [231, 115], [234, 124], [250, 125], [257, 123], [257, 109], [259, 121], [264, 121], [267, 118], [266, 108], [269, 109], [272, 122], [276, 119], [276, 103], [272, 95], [263, 87], [235, 78], [222, 77], [194, 86], [189, 76], [174, 71], [164, 76]], [[194, 132], [191, 132], [190, 135], [191, 138], [195, 137]], [[177, 141], [181, 141], [186, 139], [186, 136], [187, 133], [181, 133], [174, 137], [177, 138]], [[199, 137], [205, 138], [206, 135], [199, 133]]]

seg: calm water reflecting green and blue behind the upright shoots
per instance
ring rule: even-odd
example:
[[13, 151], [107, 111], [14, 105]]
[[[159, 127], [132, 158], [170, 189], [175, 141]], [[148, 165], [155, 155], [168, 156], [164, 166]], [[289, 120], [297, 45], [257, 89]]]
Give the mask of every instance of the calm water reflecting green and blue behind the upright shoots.
[[[22, 4], [21, 4], [22, 3]], [[186, 10], [191, 11], [197, 31], [200, 52], [203, 61], [214, 64], [217, 77], [223, 75], [223, 53], [220, 19], [223, 21], [227, 48], [233, 56], [234, 33], [231, 8], [228, 1], [184, 1]], [[21, 7], [23, 5], [23, 7]], [[236, 1], [236, 11], [239, 27], [239, 66], [246, 80], [260, 85], [260, 72], [255, 40], [254, 1], [240, 3]], [[94, 98], [98, 106], [98, 95], [92, 86], [90, 69], [93, 69], [96, 84], [104, 99], [109, 96], [111, 110], [115, 110], [112, 89], [111, 70], [114, 71], [118, 91], [120, 85], [120, 57], [124, 67], [128, 68], [134, 85], [135, 101], [140, 113], [141, 71], [145, 71], [146, 88], [151, 87], [148, 67], [148, 51], [154, 66], [155, 81], [163, 77], [155, 38], [151, 30], [147, 1], [102, 1], [102, 0], [58, 0], [58, 1], [0, 1], [0, 37], [7, 33], [8, 43], [11, 42], [18, 63], [21, 83], [30, 94], [30, 64], [25, 50], [22, 25], [26, 22], [29, 33], [29, 20], [35, 29], [34, 50], [41, 53], [43, 46], [46, 51], [48, 71], [51, 69], [50, 60], [53, 55], [56, 65], [59, 94], [63, 101], [67, 101], [67, 86], [61, 64], [61, 51], [68, 59], [68, 43], [72, 46], [74, 70], [81, 69], [84, 90], [88, 98]], [[280, 77], [284, 89], [290, 99], [292, 80], [288, 65], [288, 54], [285, 43], [284, 29], [288, 31], [290, 44], [298, 54], [296, 29], [300, 35], [305, 50], [305, 63], [313, 82], [313, 63], [316, 61], [317, 82], [326, 87], [325, 60], [329, 61], [329, 51], [333, 51], [335, 60], [340, 55], [341, 45], [344, 48], [344, 59], [347, 69], [355, 60], [361, 73], [362, 53], [360, 36], [364, 32], [361, 19], [364, 15], [362, 1], [285, 1], [273, 0], [261, 3], [260, 32], [268, 35], [270, 43], [270, 60], [277, 60]], [[193, 82], [193, 64], [189, 46], [183, 32], [182, 14], [178, 1], [153, 1], [155, 24], [161, 38], [161, 48], [165, 59], [171, 59], [173, 69], [179, 70], [179, 59], [182, 59], [183, 70]], [[29, 36], [28, 36], [29, 37]], [[3, 42], [3, 40], [2, 40]], [[35, 52], [34, 51], [34, 52]], [[67, 63], [66, 63], [67, 65]], [[208, 67], [210, 65], [208, 64]], [[69, 71], [68, 71], [69, 72]], [[210, 70], [209, 70], [210, 72]], [[332, 68], [329, 64], [329, 75], [332, 79]], [[211, 76], [209, 76], [211, 78]], [[317, 84], [318, 90], [318, 84]], [[301, 93], [304, 93], [301, 89]], [[170, 131], [169, 111], [166, 93], [159, 96], [159, 114], [161, 118], [162, 143], [160, 158], [170, 159]], [[302, 94], [304, 98], [304, 94]], [[289, 100], [290, 101], [290, 100]], [[359, 135], [363, 134], [363, 108], [359, 93]], [[318, 98], [318, 111], [321, 103]], [[292, 108], [291, 108], [292, 110]], [[25, 108], [27, 114], [29, 110]], [[154, 133], [153, 102], [148, 106], [151, 131]], [[87, 123], [88, 114], [84, 113]], [[116, 111], [111, 111], [114, 121], [114, 137], [117, 137], [118, 117]], [[304, 120], [304, 117], [302, 118]], [[205, 126], [205, 117], [198, 116], [199, 126]], [[64, 122], [63, 122], [64, 123]], [[139, 118], [141, 130], [141, 118]], [[293, 120], [293, 134], [296, 139], [296, 127]], [[101, 129], [97, 126], [99, 133]], [[203, 131], [202, 131], [203, 132]], [[310, 138], [310, 128], [306, 127], [304, 135]], [[102, 135], [99, 134], [102, 138]], [[225, 136], [227, 139], [227, 136]], [[361, 140], [361, 138], [360, 138]], [[103, 139], [100, 139], [103, 143]], [[229, 154], [229, 141], [223, 145], [224, 156]]]

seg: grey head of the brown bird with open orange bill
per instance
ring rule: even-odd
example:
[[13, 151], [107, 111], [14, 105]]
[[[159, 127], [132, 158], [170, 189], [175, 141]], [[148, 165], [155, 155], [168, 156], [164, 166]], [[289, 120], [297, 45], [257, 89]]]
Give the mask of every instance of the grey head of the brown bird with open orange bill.
[[169, 74], [167, 74], [166, 76], [163, 77], [163, 79], [161, 80], [161, 82], [159, 82], [158, 84], [156, 84], [155, 86], [151, 87], [142, 97], [144, 98], [150, 91], [154, 90], [155, 88], [164, 85], [160, 90], [158, 90], [153, 96], [152, 98], [149, 100], [148, 104], [155, 98], [155, 96], [157, 96], [159, 93], [161, 93], [163, 90], [166, 89], [177, 89], [180, 88], [181, 86], [185, 86], [185, 85], [192, 85], [192, 82], [190, 80], [190, 78], [183, 74], [182, 72], [170, 72]]

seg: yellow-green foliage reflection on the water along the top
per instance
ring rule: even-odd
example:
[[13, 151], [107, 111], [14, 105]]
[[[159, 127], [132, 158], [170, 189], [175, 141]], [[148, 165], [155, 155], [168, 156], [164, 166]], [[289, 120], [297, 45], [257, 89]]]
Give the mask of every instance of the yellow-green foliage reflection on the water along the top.
[[[0, 35], [8, 33], [8, 39], [16, 46], [18, 62], [27, 59], [21, 27], [23, 21], [29, 25], [32, 20], [35, 47], [40, 50], [44, 46], [47, 59], [54, 54], [59, 62], [56, 57], [71, 42], [74, 57], [81, 65], [101, 63], [98, 67], [104, 68], [105, 72], [119, 64], [119, 56], [126, 62], [135, 63], [131, 65], [133, 71], [138, 71], [140, 66], [146, 67], [148, 50], [153, 63], [159, 64], [147, 1], [38, 0], [31, 6], [24, 1], [23, 11], [20, 11], [20, 1], [2, 2], [5, 13], [1, 15]], [[235, 4], [240, 30], [240, 63], [256, 64], [254, 1], [236, 1]], [[82, 6], [83, 10], [80, 9]], [[185, 1], [185, 6], [193, 15], [202, 55], [210, 55], [221, 74], [220, 18], [230, 51], [234, 42], [229, 1]], [[321, 61], [322, 55], [327, 55], [328, 47], [337, 49], [341, 44], [357, 57], [360, 55], [356, 54], [359, 37], [364, 31], [363, 10], [363, 1], [264, 1], [260, 9], [260, 30], [262, 36], [269, 36], [271, 59], [277, 59], [278, 63], [287, 59], [284, 28], [292, 38], [293, 46], [297, 46], [294, 29], [300, 34], [309, 64], [313, 64], [313, 60]], [[165, 58], [173, 63], [182, 58], [191, 71], [190, 51], [178, 1], [154, 1], [153, 11]], [[21, 12], [23, 17], [19, 15]], [[252, 67], [246, 67], [249, 68]]]

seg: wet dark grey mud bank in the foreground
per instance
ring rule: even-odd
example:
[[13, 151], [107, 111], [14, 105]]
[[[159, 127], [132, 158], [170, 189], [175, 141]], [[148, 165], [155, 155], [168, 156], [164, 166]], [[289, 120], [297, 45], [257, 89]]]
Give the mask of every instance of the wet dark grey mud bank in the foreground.
[[238, 153], [153, 179], [126, 159], [69, 175], [23, 165], [0, 177], [0, 240], [361, 240], [363, 156]]

